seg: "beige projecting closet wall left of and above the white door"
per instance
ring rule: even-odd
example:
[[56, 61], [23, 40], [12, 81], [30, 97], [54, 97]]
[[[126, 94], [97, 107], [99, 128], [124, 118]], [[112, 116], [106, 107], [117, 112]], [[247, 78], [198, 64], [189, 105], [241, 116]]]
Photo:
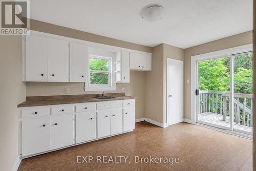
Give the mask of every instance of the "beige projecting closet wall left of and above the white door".
[[161, 44], [153, 48], [152, 71], [146, 74], [146, 118], [166, 123], [166, 58], [183, 60], [184, 50]]

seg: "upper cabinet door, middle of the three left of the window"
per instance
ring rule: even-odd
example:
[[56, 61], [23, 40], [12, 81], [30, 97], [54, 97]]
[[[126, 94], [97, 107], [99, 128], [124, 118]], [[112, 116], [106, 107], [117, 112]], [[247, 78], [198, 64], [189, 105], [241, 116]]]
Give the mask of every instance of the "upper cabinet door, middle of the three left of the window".
[[69, 41], [48, 38], [48, 81], [69, 81]]

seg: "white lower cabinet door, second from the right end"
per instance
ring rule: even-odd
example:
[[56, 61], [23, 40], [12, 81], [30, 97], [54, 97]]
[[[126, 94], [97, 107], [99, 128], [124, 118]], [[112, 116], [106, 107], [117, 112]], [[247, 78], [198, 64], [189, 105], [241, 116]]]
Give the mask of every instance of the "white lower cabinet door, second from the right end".
[[123, 132], [122, 108], [110, 110], [110, 133], [111, 135]]

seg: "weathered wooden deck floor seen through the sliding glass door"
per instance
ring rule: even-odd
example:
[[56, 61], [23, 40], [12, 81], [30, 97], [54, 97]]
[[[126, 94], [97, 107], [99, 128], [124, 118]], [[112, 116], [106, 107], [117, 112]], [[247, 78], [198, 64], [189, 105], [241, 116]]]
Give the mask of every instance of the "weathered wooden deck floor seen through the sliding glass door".
[[[226, 116], [226, 121], [223, 121], [222, 115], [211, 113], [211, 112], [204, 112], [204, 113], [198, 114], [198, 121], [205, 122], [206, 124], [208, 123], [211, 126], [218, 125], [223, 129], [225, 128], [228, 129], [230, 127], [229, 116]], [[252, 127], [250, 126], [234, 123], [233, 127], [234, 127], [234, 131], [252, 135]]]

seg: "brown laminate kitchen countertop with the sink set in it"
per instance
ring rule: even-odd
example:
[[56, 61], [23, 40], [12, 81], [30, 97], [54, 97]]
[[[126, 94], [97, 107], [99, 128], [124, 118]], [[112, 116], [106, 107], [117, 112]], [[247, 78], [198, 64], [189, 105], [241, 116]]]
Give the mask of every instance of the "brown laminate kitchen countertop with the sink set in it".
[[17, 105], [18, 108], [29, 106], [55, 105], [55, 104], [71, 104], [71, 103], [86, 103], [86, 102], [100, 102], [112, 100], [134, 99], [137, 97], [125, 96], [124, 93], [109, 93], [105, 96], [117, 97], [113, 99], [96, 99], [101, 94], [90, 95], [61, 95], [61, 96], [33, 96], [26, 97], [26, 101]]

